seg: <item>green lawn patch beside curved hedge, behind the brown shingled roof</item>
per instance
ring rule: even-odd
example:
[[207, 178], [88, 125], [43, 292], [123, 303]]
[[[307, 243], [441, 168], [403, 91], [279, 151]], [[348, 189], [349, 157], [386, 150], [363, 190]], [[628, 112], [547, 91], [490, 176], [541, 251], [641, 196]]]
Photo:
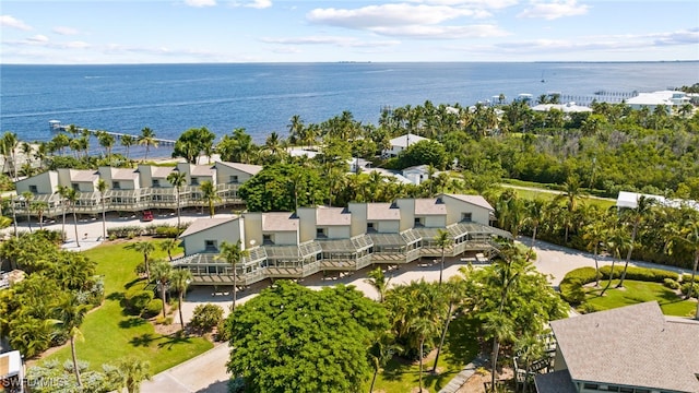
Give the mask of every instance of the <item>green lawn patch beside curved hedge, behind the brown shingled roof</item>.
[[665, 315], [691, 317], [697, 309], [697, 302], [683, 300], [675, 291], [659, 283], [647, 283], [638, 281], [624, 281], [625, 289], [615, 289], [618, 279], [612, 282], [612, 286], [600, 297], [606, 281], [600, 282], [602, 288], [588, 291], [587, 302], [599, 310], [637, 305], [644, 301], [657, 300], [660, 308]]

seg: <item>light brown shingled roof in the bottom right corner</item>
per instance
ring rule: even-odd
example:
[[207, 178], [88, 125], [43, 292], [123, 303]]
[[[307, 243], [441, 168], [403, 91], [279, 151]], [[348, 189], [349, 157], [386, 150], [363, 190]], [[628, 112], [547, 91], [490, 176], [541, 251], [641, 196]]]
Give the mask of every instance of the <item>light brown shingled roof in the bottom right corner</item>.
[[550, 322], [572, 381], [699, 392], [699, 322], [656, 301]]

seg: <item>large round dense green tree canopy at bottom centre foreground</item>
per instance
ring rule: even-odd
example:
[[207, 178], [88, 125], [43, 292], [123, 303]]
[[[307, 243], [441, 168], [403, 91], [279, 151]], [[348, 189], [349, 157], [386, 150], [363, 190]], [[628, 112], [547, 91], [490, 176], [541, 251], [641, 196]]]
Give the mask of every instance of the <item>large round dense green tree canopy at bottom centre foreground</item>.
[[228, 370], [251, 392], [356, 392], [371, 374], [374, 334], [387, 327], [381, 305], [354, 287], [280, 281], [228, 317]]

